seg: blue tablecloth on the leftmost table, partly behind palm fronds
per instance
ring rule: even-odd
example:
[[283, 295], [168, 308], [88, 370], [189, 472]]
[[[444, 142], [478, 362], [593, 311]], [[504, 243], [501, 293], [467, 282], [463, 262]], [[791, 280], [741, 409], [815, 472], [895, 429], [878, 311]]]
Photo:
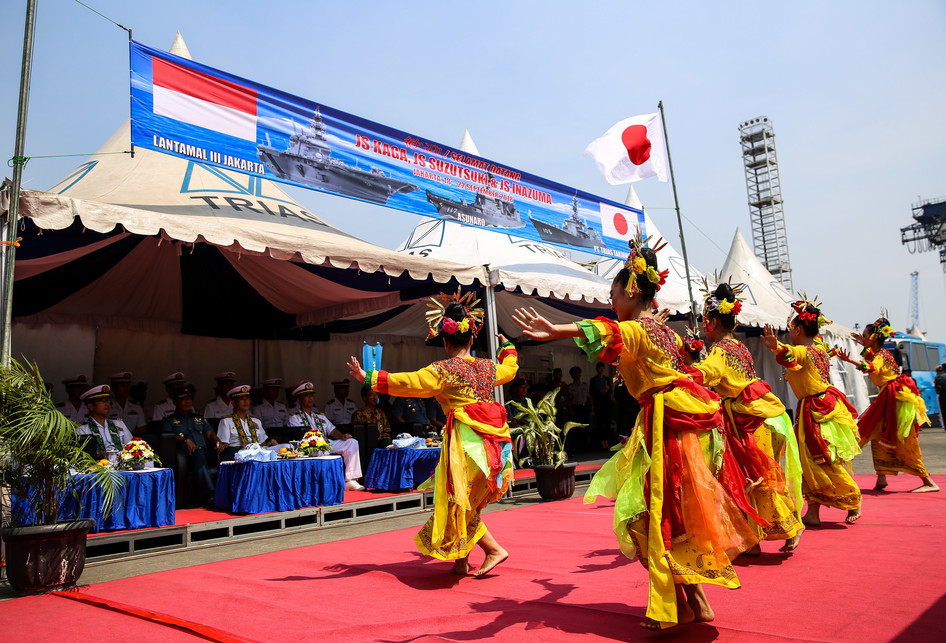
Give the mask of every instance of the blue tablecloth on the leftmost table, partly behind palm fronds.
[[102, 512], [102, 489], [92, 487], [91, 474], [72, 477], [78, 496], [64, 494], [59, 503], [59, 520], [91, 518], [89, 531], [116, 531], [142, 527], [166, 527], [174, 524], [174, 471], [142, 469], [120, 471], [122, 485], [115, 490], [112, 511]]

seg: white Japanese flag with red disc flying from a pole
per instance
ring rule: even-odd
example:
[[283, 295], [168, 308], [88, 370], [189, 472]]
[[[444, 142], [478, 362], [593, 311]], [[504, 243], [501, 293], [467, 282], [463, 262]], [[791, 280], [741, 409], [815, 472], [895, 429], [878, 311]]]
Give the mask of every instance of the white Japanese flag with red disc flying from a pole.
[[611, 185], [651, 176], [667, 182], [667, 151], [660, 114], [625, 118], [585, 148]]

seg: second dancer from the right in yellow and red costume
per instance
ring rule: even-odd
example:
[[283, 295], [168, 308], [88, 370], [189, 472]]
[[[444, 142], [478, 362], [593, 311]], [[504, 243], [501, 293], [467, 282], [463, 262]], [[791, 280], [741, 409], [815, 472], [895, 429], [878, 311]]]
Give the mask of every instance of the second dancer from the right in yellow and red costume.
[[830, 321], [821, 314], [817, 301], [810, 302], [804, 295], [792, 309], [796, 315], [789, 321], [788, 336], [793, 346], [779, 342], [769, 325], [762, 341], [786, 368], [785, 379], [798, 398], [795, 437], [808, 500], [802, 522], [820, 525], [821, 505], [827, 505], [846, 510], [844, 520], [853, 524], [861, 517], [861, 490], [849, 471], [850, 461], [861, 452], [854, 421], [857, 411], [828, 379], [830, 356], [818, 331]]

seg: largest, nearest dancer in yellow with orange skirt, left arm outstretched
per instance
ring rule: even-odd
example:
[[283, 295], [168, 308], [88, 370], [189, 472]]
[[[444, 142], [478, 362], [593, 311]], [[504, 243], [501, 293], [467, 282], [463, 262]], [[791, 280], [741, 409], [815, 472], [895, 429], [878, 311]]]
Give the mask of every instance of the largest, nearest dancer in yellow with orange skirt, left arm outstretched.
[[[639, 558], [650, 577], [641, 626], [658, 630], [713, 620], [701, 583], [739, 587], [730, 561], [758, 538], [743, 516], [752, 510], [744, 479], [714, 446], [723, 444], [719, 398], [678, 370], [680, 338], [651, 314], [666, 271], [657, 272], [655, 251], [643, 243], [635, 240], [611, 284], [619, 322], [555, 325], [533, 309], [518, 309], [513, 319], [532, 339], [573, 337], [592, 361], [618, 359], [628, 392], [641, 404], [633, 434], [595, 475], [585, 502], [616, 499], [621, 551]], [[744, 506], [734, 499], [739, 494]]]

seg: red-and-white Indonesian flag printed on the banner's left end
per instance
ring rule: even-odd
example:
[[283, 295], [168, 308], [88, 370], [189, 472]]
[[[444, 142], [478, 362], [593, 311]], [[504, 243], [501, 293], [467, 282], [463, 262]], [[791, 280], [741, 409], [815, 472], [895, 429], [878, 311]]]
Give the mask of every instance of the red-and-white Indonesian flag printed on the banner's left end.
[[256, 91], [152, 58], [154, 113], [256, 142]]

